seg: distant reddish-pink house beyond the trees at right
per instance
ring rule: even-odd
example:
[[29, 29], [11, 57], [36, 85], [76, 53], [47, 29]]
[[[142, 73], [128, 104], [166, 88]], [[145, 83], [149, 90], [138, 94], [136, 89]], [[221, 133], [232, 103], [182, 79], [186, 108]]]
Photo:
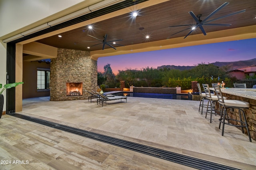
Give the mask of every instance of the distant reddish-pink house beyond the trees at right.
[[234, 70], [230, 70], [228, 74], [231, 77], [236, 77], [239, 80], [243, 80], [245, 79], [246, 75], [253, 76], [254, 74], [256, 74], [256, 65], [236, 68]]

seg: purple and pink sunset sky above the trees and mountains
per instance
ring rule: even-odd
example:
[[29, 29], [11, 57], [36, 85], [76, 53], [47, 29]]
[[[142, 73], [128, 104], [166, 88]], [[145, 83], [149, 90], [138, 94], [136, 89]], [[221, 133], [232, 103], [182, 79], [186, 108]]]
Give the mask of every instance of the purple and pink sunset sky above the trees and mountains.
[[194, 66], [199, 63], [214, 63], [216, 61], [241, 61], [256, 58], [256, 38], [181, 47], [143, 53], [100, 57], [98, 71], [104, 72], [104, 65], [110, 64], [114, 74], [118, 70], [157, 68], [162, 65]]

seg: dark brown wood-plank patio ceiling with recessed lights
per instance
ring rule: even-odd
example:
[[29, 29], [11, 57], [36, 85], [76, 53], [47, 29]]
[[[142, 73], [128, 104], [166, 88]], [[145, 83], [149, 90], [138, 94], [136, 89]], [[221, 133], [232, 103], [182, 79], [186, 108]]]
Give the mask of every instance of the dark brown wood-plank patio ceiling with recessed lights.
[[[93, 29], [89, 29], [88, 25], [83, 25], [82, 27], [61, 33], [61, 38], [58, 35], [53, 35], [37, 40], [37, 42], [58, 48], [97, 51], [102, 50], [102, 44], [95, 45], [100, 43], [100, 41], [88, 36], [88, 34], [102, 40], [104, 39], [104, 35], [108, 34], [107, 41], [122, 39], [122, 41], [118, 41], [117, 43], [125, 46], [174, 39], [177, 37], [182, 37], [182, 41], [186, 41], [189, 36], [200, 34], [203, 37], [204, 35], [197, 28], [186, 39], [183, 39], [190, 30], [180, 33], [177, 32], [188, 28], [188, 26], [169, 26], [196, 24], [195, 20], [188, 13], [189, 11], [194, 12], [196, 16], [202, 14], [200, 19], [204, 20], [204, 18], [224, 4], [224, 2], [223, 0], [169, 0], [138, 10], [138, 16], [136, 18], [133, 18], [131, 13], [126, 13], [92, 23]], [[246, 12], [211, 22], [232, 24], [229, 27], [203, 25], [207, 34], [225, 29], [256, 25], [256, 0], [229, 0], [228, 2], [229, 4], [227, 6], [214, 14], [209, 20], [244, 9]], [[174, 33], [177, 34], [172, 35]], [[150, 38], [146, 39], [146, 35], [149, 35]], [[91, 47], [92, 45], [95, 46]], [[117, 49], [122, 48], [118, 45], [113, 46]], [[87, 47], [90, 47], [90, 49]], [[105, 49], [108, 48], [111, 47], [105, 45]]]

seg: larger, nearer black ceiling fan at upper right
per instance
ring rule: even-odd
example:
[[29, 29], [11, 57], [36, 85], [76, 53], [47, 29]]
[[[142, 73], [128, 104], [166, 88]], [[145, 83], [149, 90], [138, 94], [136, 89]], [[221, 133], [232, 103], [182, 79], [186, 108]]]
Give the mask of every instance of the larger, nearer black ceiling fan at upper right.
[[[181, 30], [181, 31], [179, 31], [179, 32], [177, 32], [177, 33], [180, 33], [180, 32], [182, 32], [182, 31], [186, 31], [186, 30], [190, 30], [190, 32], [184, 37], [184, 39], [186, 38], [186, 37], [188, 37], [188, 35], [190, 35], [190, 33], [192, 33], [192, 31], [194, 31], [194, 29], [196, 29], [197, 27], [199, 27], [200, 29], [201, 29], [201, 31], [202, 31], [202, 33], [204, 34], [204, 35], [206, 35], [206, 32], [205, 32], [205, 30], [204, 30], [204, 28], [203, 28], [203, 25], [216, 25], [216, 26], [230, 26], [231, 24], [229, 24], [229, 23], [210, 23], [210, 22], [212, 22], [212, 21], [216, 21], [216, 20], [220, 20], [220, 19], [222, 19], [222, 18], [226, 18], [226, 17], [228, 17], [228, 16], [232, 16], [232, 15], [235, 15], [235, 14], [239, 14], [239, 13], [242, 13], [242, 12], [245, 12], [245, 10], [241, 10], [241, 11], [238, 11], [238, 12], [234, 12], [234, 13], [231, 13], [231, 14], [228, 14], [228, 15], [225, 15], [225, 16], [221, 16], [221, 17], [218, 17], [218, 18], [215, 18], [215, 19], [212, 19], [212, 20], [208, 20], [210, 17], [212, 17], [216, 12], [218, 12], [220, 9], [222, 9], [223, 7], [225, 7], [226, 5], [228, 5], [229, 4], [229, 2], [225, 2], [224, 4], [222, 4], [219, 8], [217, 8], [214, 12], [212, 12], [210, 15], [208, 15], [204, 20], [200, 20], [200, 17], [202, 16], [202, 14], [198, 14], [197, 16], [192, 12], [192, 11], [190, 11], [190, 12], [188, 12], [193, 18], [194, 18], [194, 20], [196, 21], [196, 24], [188, 24], [188, 25], [175, 25], [175, 26], [170, 26], [170, 27], [180, 27], [180, 26], [192, 26], [192, 28], [191, 27], [189, 27], [189, 28], [186, 28], [186, 29], [183, 29], [183, 30]], [[172, 35], [175, 35], [175, 34], [177, 34], [177, 33], [174, 33], [174, 34], [172, 34]], [[171, 36], [172, 36], [171, 35]]]

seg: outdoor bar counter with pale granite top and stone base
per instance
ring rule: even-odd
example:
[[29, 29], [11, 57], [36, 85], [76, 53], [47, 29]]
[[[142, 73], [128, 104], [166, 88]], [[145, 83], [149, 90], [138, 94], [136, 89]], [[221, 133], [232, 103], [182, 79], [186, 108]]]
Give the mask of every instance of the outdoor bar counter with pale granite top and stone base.
[[[250, 103], [250, 108], [245, 109], [245, 115], [248, 123], [251, 138], [256, 140], [256, 89], [255, 88], [221, 88], [222, 95], [228, 99], [242, 100]], [[238, 112], [229, 114], [233, 119], [239, 119]], [[245, 134], [246, 129], [245, 130]]]

